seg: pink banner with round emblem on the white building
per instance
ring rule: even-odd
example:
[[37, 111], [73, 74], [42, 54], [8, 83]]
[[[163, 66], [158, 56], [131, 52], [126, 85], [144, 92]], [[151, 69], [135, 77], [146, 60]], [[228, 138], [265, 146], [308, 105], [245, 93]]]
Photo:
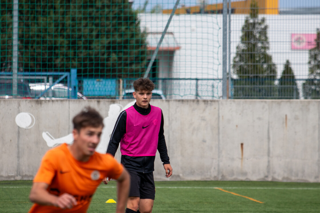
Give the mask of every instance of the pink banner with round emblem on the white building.
[[291, 34], [292, 50], [310, 50], [316, 46], [317, 34]]

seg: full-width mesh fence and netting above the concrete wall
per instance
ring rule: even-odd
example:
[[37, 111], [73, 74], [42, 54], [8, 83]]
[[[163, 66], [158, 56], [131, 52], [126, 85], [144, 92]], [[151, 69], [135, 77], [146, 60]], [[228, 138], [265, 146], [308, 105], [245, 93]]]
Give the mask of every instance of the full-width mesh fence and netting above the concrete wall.
[[320, 97], [317, 1], [0, 1], [1, 98]]

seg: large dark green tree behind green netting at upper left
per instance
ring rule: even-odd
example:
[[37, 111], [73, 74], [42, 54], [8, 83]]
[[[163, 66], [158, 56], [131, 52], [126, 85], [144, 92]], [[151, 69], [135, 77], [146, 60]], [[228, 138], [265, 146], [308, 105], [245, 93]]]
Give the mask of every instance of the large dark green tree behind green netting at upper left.
[[[12, 10], [1, 8], [4, 19], [1, 63], [12, 60]], [[18, 54], [24, 72], [137, 77], [146, 67], [146, 34], [127, 0], [20, 0]]]

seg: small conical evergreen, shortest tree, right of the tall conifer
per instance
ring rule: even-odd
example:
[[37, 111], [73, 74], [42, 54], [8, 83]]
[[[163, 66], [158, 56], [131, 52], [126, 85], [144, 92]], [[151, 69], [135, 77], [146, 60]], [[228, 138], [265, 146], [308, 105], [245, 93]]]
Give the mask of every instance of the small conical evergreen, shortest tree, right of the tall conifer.
[[286, 61], [279, 79], [278, 97], [280, 99], [299, 99], [298, 86], [289, 60]]

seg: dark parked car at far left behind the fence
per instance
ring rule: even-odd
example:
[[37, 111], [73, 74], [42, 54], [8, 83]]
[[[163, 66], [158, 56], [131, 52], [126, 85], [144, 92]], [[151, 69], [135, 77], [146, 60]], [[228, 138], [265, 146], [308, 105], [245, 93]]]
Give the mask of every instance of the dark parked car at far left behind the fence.
[[[0, 80], [0, 99], [12, 99], [12, 79]], [[30, 88], [26, 81], [18, 79], [17, 99], [31, 99]]]

